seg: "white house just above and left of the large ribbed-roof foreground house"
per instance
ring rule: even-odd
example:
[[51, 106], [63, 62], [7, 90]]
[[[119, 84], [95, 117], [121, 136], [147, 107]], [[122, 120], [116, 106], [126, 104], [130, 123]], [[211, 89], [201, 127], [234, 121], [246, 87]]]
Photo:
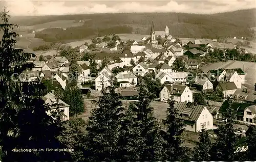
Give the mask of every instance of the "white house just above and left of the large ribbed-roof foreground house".
[[193, 102], [193, 93], [187, 86], [176, 84], [165, 85], [160, 92], [160, 101], [167, 102], [170, 96], [176, 102]]

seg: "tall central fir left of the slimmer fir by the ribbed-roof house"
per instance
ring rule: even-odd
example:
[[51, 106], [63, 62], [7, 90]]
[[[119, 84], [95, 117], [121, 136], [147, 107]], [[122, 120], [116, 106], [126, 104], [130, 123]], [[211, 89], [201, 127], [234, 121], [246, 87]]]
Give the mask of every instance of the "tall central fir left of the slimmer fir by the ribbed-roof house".
[[144, 149], [141, 154], [141, 161], [155, 161], [162, 159], [162, 142], [159, 122], [154, 117], [154, 108], [150, 106], [151, 99], [154, 98], [146, 89], [144, 83], [140, 84], [139, 101], [135, 102], [133, 112], [136, 114], [139, 127], [142, 129], [140, 137], [144, 139]]

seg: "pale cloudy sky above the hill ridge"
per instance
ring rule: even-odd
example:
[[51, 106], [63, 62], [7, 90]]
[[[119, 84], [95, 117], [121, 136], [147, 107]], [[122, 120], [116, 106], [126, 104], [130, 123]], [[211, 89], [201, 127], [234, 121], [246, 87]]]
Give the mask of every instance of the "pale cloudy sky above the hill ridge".
[[256, 0], [0, 0], [1, 10], [4, 6], [12, 16], [131, 12], [211, 14], [256, 8]]

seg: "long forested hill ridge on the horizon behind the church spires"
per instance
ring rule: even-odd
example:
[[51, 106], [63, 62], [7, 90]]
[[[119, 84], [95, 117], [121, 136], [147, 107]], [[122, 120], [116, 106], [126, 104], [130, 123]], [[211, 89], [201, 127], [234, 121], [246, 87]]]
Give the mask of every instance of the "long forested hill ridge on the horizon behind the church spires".
[[[255, 13], [256, 9], [249, 9], [208, 15], [188, 13], [118, 13], [13, 17], [11, 20], [20, 25], [34, 25], [56, 20], [79, 21], [87, 19], [89, 21], [85, 21], [83, 24], [84, 30], [125, 25], [132, 26], [133, 33], [136, 34], [149, 34], [151, 22], [154, 20], [155, 30], [163, 31], [165, 26], [168, 25], [169, 33], [175, 37], [218, 39], [230, 36], [252, 37], [253, 32], [249, 30], [249, 27], [256, 26]], [[75, 31], [76, 28], [72, 28], [72, 30]]]

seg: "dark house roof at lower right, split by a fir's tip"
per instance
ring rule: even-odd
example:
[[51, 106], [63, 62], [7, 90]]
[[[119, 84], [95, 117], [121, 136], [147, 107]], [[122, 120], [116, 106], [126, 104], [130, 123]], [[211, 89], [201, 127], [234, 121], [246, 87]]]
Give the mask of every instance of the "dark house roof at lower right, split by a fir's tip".
[[[244, 110], [250, 105], [252, 105], [252, 104], [241, 103], [241, 102], [232, 102], [231, 108], [233, 109], [234, 114], [243, 116]], [[222, 103], [219, 112], [226, 113], [227, 107], [228, 107], [228, 101], [226, 100]]]

